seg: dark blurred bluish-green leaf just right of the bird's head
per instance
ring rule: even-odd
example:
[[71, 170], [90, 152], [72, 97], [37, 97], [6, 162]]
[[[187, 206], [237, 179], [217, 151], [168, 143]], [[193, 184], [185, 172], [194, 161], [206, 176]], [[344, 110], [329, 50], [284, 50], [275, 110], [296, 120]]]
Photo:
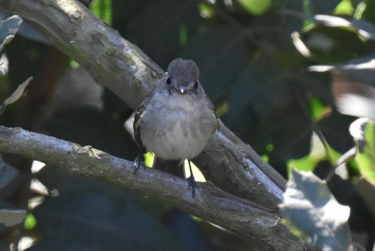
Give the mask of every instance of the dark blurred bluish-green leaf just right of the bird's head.
[[215, 102], [227, 95], [228, 88], [245, 67], [249, 52], [240, 30], [226, 26], [205, 29], [186, 45], [181, 56], [196, 62], [202, 86]]

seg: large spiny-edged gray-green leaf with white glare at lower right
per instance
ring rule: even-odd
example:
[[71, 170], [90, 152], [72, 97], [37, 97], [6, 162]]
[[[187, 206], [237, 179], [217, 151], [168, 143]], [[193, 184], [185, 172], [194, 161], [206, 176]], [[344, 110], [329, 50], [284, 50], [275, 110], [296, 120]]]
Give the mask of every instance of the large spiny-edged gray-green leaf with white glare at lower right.
[[281, 207], [285, 224], [303, 241], [319, 250], [348, 250], [350, 208], [339, 204], [326, 182], [311, 172], [292, 169]]

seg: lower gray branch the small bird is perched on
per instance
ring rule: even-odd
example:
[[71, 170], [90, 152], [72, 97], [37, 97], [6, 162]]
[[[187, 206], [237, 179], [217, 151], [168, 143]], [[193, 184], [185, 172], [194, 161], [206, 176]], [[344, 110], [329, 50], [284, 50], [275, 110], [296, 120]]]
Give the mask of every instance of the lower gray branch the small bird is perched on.
[[174, 175], [151, 168], [140, 168], [133, 174], [133, 162], [90, 146], [81, 147], [20, 128], [0, 126], [0, 151], [21, 154], [58, 165], [73, 174], [134, 189], [250, 239], [265, 250], [304, 249], [276, 213], [227, 194], [212, 183], [198, 183], [200, 191], [193, 199], [186, 181]]

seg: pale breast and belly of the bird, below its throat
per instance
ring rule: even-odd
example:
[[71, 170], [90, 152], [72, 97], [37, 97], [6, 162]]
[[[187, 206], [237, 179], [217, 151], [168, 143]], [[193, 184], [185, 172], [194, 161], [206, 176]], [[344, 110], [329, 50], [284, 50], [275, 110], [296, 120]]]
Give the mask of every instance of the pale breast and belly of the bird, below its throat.
[[141, 139], [147, 151], [163, 159], [193, 159], [214, 131], [216, 118], [209, 109], [197, 112], [190, 106], [171, 107], [164, 101], [148, 108], [141, 118]]

